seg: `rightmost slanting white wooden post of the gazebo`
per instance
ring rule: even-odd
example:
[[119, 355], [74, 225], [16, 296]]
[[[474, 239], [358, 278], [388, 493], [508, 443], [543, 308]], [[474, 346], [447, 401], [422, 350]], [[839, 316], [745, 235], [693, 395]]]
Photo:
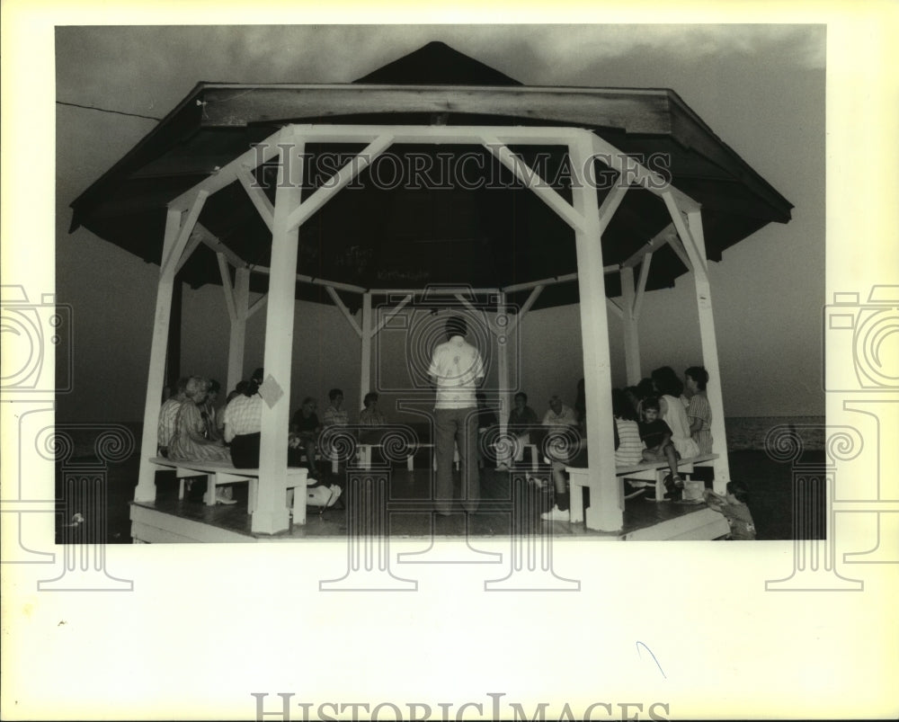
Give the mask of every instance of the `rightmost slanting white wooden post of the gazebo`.
[[701, 211], [693, 210], [687, 214], [690, 227], [690, 239], [684, 239], [684, 245], [693, 263], [693, 281], [696, 284], [696, 305], [699, 308], [699, 338], [702, 343], [702, 364], [708, 371], [706, 396], [712, 408], [712, 450], [717, 453], [715, 459], [715, 491], [724, 494], [727, 482], [730, 481], [730, 464], [727, 459], [727, 437], [725, 434], [725, 405], [721, 393], [721, 371], [718, 367], [718, 346], [715, 335], [715, 319], [712, 316], [712, 293], [708, 283], [706, 261], [706, 239], [702, 232]]

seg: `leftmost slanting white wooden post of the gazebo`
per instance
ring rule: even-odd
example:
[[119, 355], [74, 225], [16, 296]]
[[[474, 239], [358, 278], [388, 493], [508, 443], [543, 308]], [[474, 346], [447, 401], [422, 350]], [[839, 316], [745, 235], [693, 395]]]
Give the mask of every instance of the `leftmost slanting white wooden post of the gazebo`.
[[[172, 254], [175, 239], [181, 231], [182, 211], [169, 209], [165, 217], [165, 240], [162, 259]], [[156, 501], [156, 469], [150, 463], [156, 456], [156, 427], [159, 424], [159, 407], [162, 406], [165, 377], [165, 351], [168, 329], [172, 316], [172, 291], [174, 289], [175, 264], [160, 268], [156, 286], [156, 316], [153, 323], [153, 341], [150, 346], [150, 368], [147, 372], [147, 397], [144, 401], [144, 430], [140, 441], [140, 468], [138, 486], [134, 491], [136, 502]]]

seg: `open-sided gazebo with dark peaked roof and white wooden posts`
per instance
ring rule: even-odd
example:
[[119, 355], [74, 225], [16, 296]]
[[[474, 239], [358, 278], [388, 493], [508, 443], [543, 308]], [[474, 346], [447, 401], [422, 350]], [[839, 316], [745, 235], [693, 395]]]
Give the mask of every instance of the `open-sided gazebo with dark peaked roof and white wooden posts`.
[[[160, 266], [136, 502], [156, 498], [150, 459], [176, 274], [223, 287], [227, 388], [244, 374], [246, 320], [264, 308], [274, 393], [252, 515], [260, 534], [289, 526], [296, 300], [341, 309], [360, 337], [362, 393], [383, 326], [373, 299], [414, 308], [437, 292], [488, 308], [509, 329], [530, 309], [579, 303], [588, 444], [612, 449], [607, 308], [622, 319], [636, 383], [644, 294], [689, 273], [721, 489], [729, 471], [708, 262], [788, 222], [792, 208], [671, 90], [525, 86], [438, 42], [351, 84], [200, 83], [72, 207], [73, 230]], [[266, 294], [252, 307], [251, 291]], [[613, 455], [594, 455], [589, 473], [603, 492], [588, 523], [619, 530]]]

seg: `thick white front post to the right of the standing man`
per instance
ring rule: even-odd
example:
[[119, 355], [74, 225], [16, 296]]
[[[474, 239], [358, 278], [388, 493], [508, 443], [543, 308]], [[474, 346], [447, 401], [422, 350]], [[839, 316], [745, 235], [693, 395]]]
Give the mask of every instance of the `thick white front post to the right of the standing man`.
[[[612, 192], [598, 208], [595, 182], [590, 170], [592, 140], [588, 131], [568, 147], [574, 168], [572, 187], [574, 210], [583, 218], [575, 229], [577, 281], [581, 295], [581, 337], [583, 343], [584, 392], [587, 403], [587, 448], [593, 488], [600, 489], [598, 499], [590, 500], [584, 515], [588, 528], [619, 531], [624, 524], [624, 494], [615, 476], [615, 439], [612, 430], [611, 368], [609, 324], [606, 318], [606, 289], [602, 273], [601, 229], [608, 225], [620, 194]], [[601, 216], [602, 214], [602, 216]], [[575, 494], [580, 489], [574, 490]]]

